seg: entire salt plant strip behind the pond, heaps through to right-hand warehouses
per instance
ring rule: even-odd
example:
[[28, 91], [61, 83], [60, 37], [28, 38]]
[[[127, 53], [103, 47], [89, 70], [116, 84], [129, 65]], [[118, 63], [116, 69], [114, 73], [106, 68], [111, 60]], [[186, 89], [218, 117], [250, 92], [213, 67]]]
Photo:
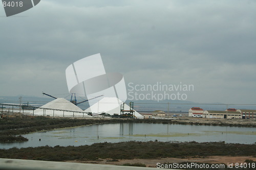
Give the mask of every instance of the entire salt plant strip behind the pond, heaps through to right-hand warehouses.
[[[175, 107], [170, 103], [162, 104], [163, 106], [167, 106], [167, 109], [164, 109], [157, 103], [152, 110], [143, 110], [143, 108], [150, 108], [154, 103], [148, 105], [142, 103], [127, 102], [123, 103], [118, 98], [110, 98], [94, 96], [88, 100], [77, 101], [76, 95], [71, 94], [71, 99], [67, 100], [65, 98], [56, 98], [53, 95], [44, 93], [44, 95], [50, 96], [53, 98], [53, 101], [49, 101], [51, 98], [40, 98], [44, 99], [45, 102], [41, 102], [41, 104], [36, 104], [35, 99], [26, 99], [27, 101], [32, 102], [22, 102], [22, 97], [19, 98], [19, 102], [15, 102], [13, 98], [10, 100], [3, 100], [0, 103], [0, 115], [1, 117], [8, 116], [17, 116], [17, 115], [30, 115], [30, 116], [50, 116], [50, 117], [84, 117], [84, 118], [92, 118], [92, 117], [105, 117], [105, 118], [179, 118], [182, 117], [194, 117], [196, 119], [200, 118], [223, 118], [223, 119], [255, 119], [256, 118], [256, 110], [253, 110], [253, 107], [247, 106], [244, 108], [243, 106], [237, 106], [236, 108], [207, 108], [207, 107], [189, 107], [183, 105], [183, 111], [175, 111]], [[25, 97], [26, 98], [26, 97]], [[88, 106], [89, 100], [99, 99], [92, 106]], [[48, 101], [48, 102], [46, 102]], [[12, 102], [12, 103], [10, 103]], [[13, 103], [15, 102], [15, 103]], [[44, 104], [43, 104], [44, 103]], [[84, 104], [82, 107], [80, 104]], [[194, 104], [195, 105], [195, 104]], [[200, 106], [200, 105], [199, 105]], [[202, 105], [205, 106], [205, 105]], [[212, 106], [212, 105], [211, 105]], [[188, 108], [189, 107], [189, 108]], [[134, 109], [136, 108], [136, 109]], [[170, 108], [172, 110], [170, 110]], [[187, 109], [186, 109], [187, 108]], [[154, 110], [155, 109], [155, 110]], [[163, 110], [159, 110], [163, 109]]]

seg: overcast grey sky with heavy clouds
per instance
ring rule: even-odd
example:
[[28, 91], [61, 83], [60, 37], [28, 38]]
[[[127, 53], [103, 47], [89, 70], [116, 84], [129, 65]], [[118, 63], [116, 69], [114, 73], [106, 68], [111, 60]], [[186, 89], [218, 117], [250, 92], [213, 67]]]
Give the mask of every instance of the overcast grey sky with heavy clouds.
[[[192, 84], [187, 100], [255, 104], [256, 1], [41, 0], [0, 7], [0, 95], [69, 93], [66, 68], [100, 53], [125, 83]], [[128, 87], [127, 87], [128, 88]]]

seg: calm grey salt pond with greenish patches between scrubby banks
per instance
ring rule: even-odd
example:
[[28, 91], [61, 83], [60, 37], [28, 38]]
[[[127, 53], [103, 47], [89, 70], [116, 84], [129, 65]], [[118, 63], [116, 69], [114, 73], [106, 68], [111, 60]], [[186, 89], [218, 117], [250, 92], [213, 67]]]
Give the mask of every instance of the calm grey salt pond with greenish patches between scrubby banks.
[[[256, 142], [256, 128], [169, 125], [145, 123], [99, 124], [65, 128], [23, 135], [26, 142], [0, 143], [0, 149], [27, 148], [49, 145], [85, 145], [121, 141], [225, 141], [226, 143]], [[40, 140], [39, 140], [40, 139]]]

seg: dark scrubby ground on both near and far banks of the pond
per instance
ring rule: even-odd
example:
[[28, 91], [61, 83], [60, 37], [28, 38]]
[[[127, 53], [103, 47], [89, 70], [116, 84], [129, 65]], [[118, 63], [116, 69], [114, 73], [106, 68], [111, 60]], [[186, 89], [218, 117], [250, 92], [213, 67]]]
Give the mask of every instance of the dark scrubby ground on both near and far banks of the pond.
[[[26, 140], [20, 135], [30, 132], [75, 127], [102, 123], [159, 123], [189, 124], [206, 126], [256, 127], [251, 119], [81, 119], [50, 117], [9, 117], [0, 119], [0, 141]], [[256, 162], [255, 144], [224, 142], [120, 142], [95, 143], [80, 147], [37, 147], [0, 149], [0, 158], [32, 159], [50, 161], [71, 161], [115, 165], [145, 165], [156, 167], [157, 163], [201, 162], [201, 163], [243, 163]], [[242, 168], [245, 169], [245, 168]], [[248, 168], [247, 168], [248, 169]]]

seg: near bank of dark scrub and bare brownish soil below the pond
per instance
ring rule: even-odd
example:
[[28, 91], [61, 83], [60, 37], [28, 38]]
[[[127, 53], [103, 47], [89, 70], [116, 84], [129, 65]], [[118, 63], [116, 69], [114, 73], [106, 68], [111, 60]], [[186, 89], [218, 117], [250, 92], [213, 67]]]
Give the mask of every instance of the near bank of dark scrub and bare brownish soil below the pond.
[[256, 145], [224, 142], [119, 142], [79, 147], [0, 149], [0, 158], [67, 161], [80, 163], [143, 165], [201, 162], [208, 164], [256, 163]]

